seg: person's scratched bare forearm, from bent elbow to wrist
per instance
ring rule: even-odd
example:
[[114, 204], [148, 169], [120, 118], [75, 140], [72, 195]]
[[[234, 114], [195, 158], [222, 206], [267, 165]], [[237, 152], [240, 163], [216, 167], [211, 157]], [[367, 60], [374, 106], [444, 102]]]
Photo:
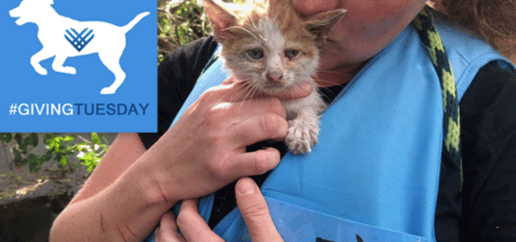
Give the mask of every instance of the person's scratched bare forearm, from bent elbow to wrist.
[[165, 198], [152, 171], [136, 162], [110, 186], [69, 205], [54, 222], [51, 241], [141, 241], [177, 201]]

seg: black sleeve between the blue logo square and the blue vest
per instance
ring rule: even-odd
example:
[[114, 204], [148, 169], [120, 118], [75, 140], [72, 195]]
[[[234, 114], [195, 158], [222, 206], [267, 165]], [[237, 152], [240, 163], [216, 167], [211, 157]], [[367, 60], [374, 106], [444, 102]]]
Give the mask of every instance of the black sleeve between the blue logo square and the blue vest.
[[204, 37], [179, 47], [160, 64], [158, 132], [139, 134], [145, 148], [149, 149], [168, 130], [216, 48], [213, 37]]

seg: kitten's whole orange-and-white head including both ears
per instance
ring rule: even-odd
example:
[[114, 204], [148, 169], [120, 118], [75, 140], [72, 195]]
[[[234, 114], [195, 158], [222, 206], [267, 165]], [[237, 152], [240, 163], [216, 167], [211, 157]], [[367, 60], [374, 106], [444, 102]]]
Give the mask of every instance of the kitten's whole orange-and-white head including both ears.
[[[319, 62], [322, 38], [343, 12], [301, 19], [289, 0], [257, 3], [233, 11], [216, 9], [205, 0], [205, 7], [222, 44], [226, 67], [252, 90], [277, 94], [302, 81], [312, 80]], [[222, 10], [221, 10], [222, 9]], [[226, 14], [221, 14], [226, 10]], [[324, 14], [323, 14], [324, 15]]]

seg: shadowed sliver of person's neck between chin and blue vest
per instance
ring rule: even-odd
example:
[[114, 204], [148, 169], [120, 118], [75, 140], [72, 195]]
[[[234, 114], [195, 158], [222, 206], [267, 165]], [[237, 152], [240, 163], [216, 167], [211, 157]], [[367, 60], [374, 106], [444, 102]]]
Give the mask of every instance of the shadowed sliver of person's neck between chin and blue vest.
[[357, 64], [349, 64], [340, 69], [331, 71], [320, 71], [314, 78], [320, 87], [331, 87], [343, 85], [351, 81], [351, 79], [362, 69], [367, 61]]

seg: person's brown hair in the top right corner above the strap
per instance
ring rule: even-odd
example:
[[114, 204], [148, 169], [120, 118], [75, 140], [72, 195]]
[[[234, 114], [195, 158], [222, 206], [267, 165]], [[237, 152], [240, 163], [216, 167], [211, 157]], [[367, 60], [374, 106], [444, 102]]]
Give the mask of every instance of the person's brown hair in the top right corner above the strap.
[[442, 0], [435, 8], [516, 61], [516, 0]]

